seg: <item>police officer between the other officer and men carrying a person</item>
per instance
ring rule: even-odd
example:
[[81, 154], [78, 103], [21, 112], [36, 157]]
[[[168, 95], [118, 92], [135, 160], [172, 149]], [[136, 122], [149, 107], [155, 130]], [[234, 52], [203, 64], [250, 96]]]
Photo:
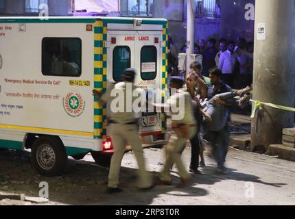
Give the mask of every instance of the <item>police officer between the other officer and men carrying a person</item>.
[[[167, 146], [165, 146], [165, 165], [160, 173], [160, 179], [158, 185], [171, 185], [172, 178], [170, 176], [170, 170], [174, 163], [178, 169], [178, 174], [180, 175], [180, 183], [176, 185], [178, 188], [185, 187], [190, 182], [190, 175], [187, 172], [185, 165], [182, 163], [181, 154], [185, 149], [187, 140], [191, 140], [193, 136], [196, 135], [197, 127], [196, 120], [193, 116], [193, 108], [191, 105], [191, 96], [189, 92], [185, 92], [182, 89], [184, 81], [181, 77], [171, 77], [170, 88], [177, 90], [175, 94], [170, 96], [167, 102], [162, 105], [162, 107], [169, 107], [170, 109], [175, 109], [176, 106], [180, 106], [180, 99], [182, 99], [183, 106], [180, 106], [179, 112], [173, 112], [172, 114], [172, 128], [174, 134], [170, 137]], [[158, 105], [155, 105], [158, 107]], [[181, 116], [176, 116], [183, 112]]]

